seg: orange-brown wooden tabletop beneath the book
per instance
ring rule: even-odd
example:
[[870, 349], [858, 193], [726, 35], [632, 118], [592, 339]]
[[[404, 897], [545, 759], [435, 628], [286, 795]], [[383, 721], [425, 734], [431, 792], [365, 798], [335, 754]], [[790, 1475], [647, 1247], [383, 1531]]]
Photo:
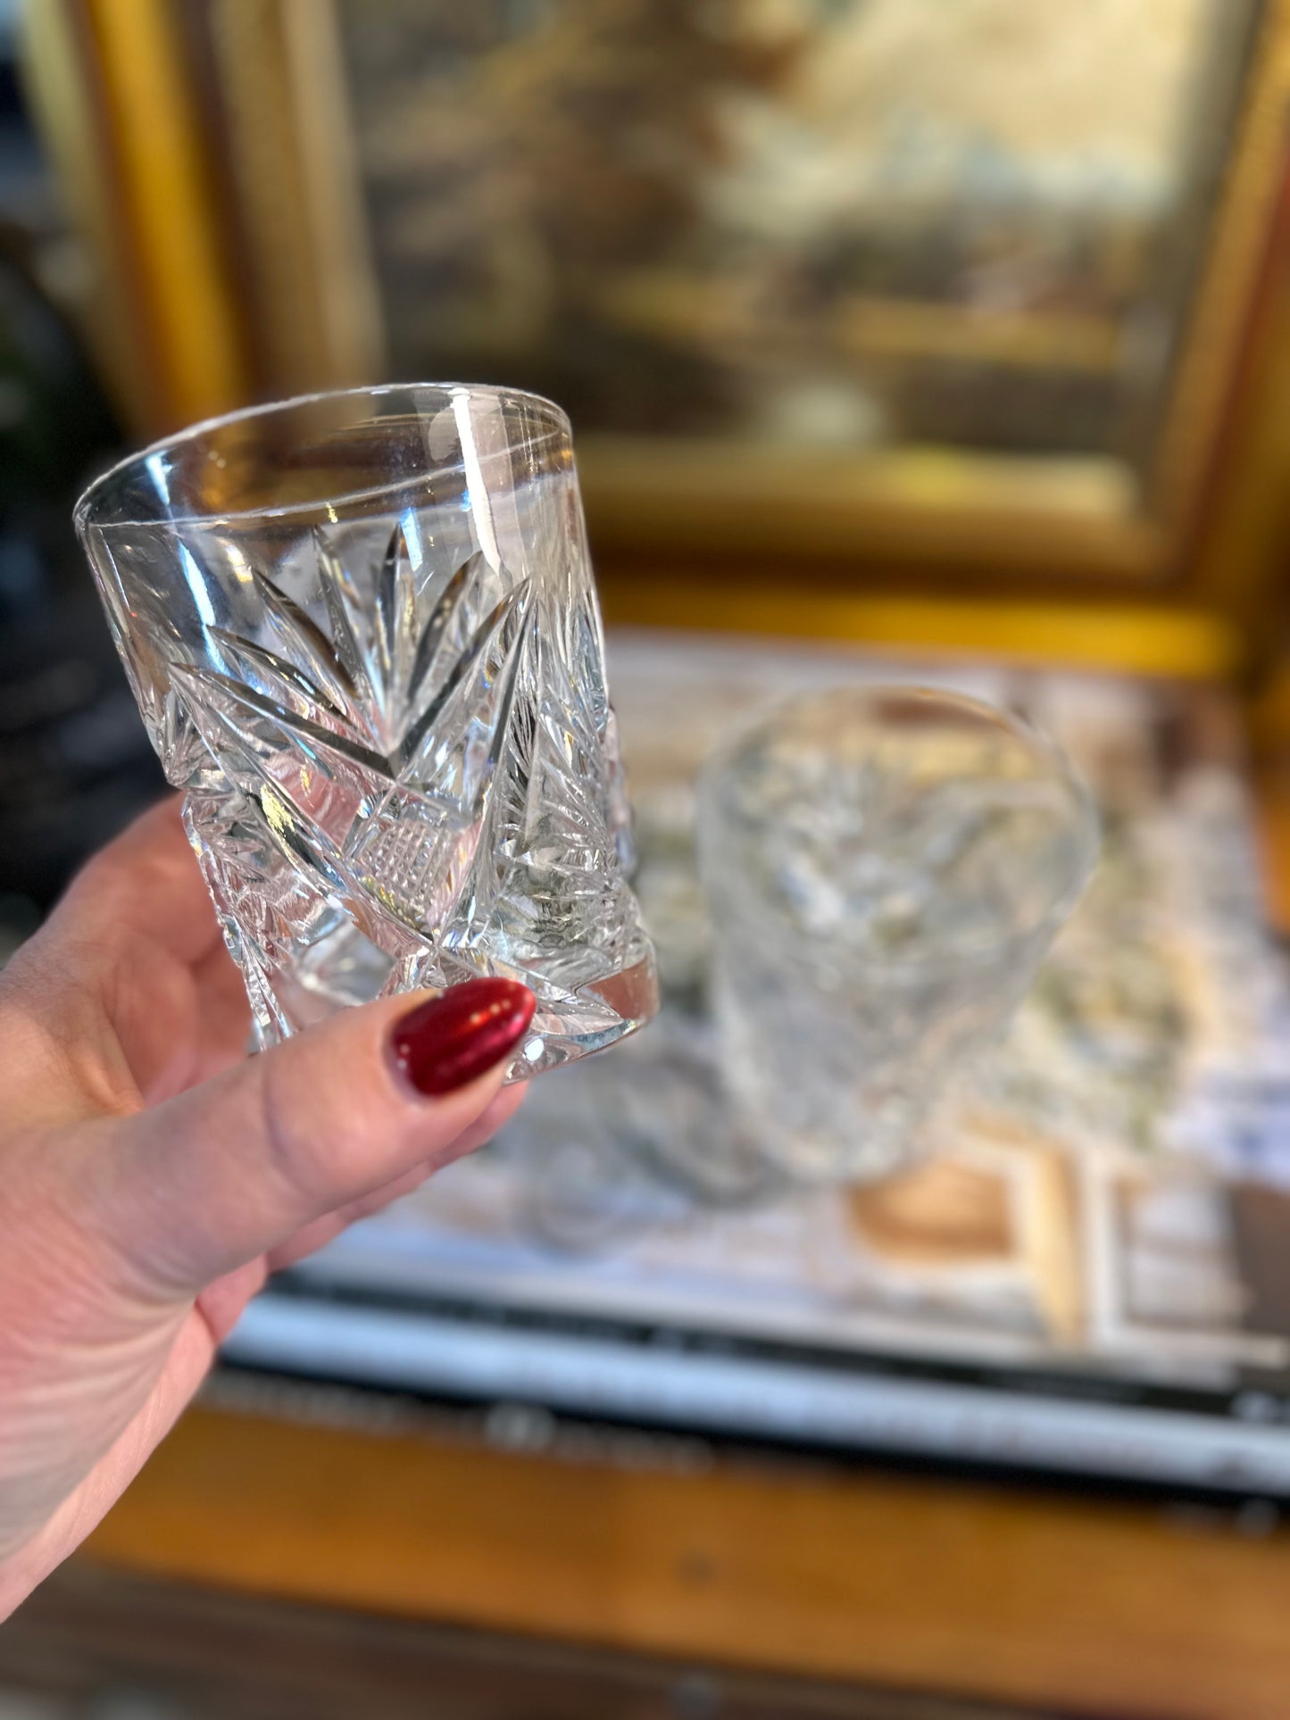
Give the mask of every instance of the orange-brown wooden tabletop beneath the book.
[[[1290, 777], [1264, 783], [1290, 920]], [[1283, 922], [1285, 924], [1285, 922]], [[88, 1560], [229, 1591], [1115, 1717], [1290, 1715], [1290, 1531], [736, 1459], [198, 1409]]]

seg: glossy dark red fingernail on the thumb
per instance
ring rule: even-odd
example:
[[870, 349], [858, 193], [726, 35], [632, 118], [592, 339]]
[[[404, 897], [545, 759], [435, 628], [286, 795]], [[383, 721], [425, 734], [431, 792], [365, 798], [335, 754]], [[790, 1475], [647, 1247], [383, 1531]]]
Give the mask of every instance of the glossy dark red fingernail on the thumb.
[[394, 1023], [394, 1063], [418, 1092], [454, 1092], [502, 1061], [533, 1008], [533, 992], [513, 979], [470, 979]]

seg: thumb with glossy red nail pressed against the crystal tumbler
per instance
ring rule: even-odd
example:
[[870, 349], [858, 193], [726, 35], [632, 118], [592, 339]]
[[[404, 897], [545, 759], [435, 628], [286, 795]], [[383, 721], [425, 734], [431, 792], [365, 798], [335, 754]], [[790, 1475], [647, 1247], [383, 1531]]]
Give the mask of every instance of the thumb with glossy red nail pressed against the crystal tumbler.
[[148, 1290], [196, 1293], [413, 1166], [456, 1158], [531, 1017], [533, 994], [506, 979], [342, 1010], [95, 1125], [83, 1209]]

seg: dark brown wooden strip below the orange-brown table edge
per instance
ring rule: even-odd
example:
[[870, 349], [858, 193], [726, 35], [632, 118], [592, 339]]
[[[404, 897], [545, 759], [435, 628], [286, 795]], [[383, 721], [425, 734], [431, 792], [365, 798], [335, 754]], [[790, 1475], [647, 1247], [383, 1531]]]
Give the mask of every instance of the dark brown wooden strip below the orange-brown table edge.
[[[15, 1692], [17, 1711], [10, 1706]], [[40, 1692], [40, 1703], [29, 1703]], [[5, 1720], [1054, 1720], [64, 1569], [0, 1631]]]

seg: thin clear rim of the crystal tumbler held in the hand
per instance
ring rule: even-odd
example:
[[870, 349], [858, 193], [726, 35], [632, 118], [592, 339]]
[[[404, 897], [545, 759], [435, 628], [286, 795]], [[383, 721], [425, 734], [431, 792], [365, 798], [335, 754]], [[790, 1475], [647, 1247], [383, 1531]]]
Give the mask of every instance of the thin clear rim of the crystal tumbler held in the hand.
[[[280, 401], [256, 401], [251, 406], [236, 406], [227, 413], [215, 413], [210, 418], [198, 418], [191, 425], [184, 425], [182, 430], [174, 430], [170, 435], [157, 437], [146, 447], [136, 449], [132, 454], [124, 454], [119, 461], [101, 471], [93, 478], [81, 495], [76, 499], [72, 507], [72, 525], [79, 538], [84, 538], [89, 530], [114, 531], [117, 528], [131, 526], [157, 526], [157, 525], [206, 525], [215, 521], [229, 519], [287, 519], [292, 514], [316, 507], [316, 502], [286, 502], [268, 507], [222, 507], [210, 513], [191, 513], [175, 516], [165, 521], [158, 519], [138, 519], [138, 518], [120, 518], [120, 519], [93, 519], [91, 514], [95, 506], [103, 499], [108, 488], [119, 480], [132, 475], [136, 470], [144, 470], [151, 459], [158, 454], [167, 454], [174, 449], [181, 449], [191, 444], [201, 442], [203, 437], [210, 437], [220, 430], [230, 428], [239, 423], [251, 423], [258, 418], [286, 418], [287, 413], [299, 411], [304, 406], [320, 406], [330, 401], [375, 401], [385, 399], [397, 394], [440, 394], [444, 396], [444, 404], [464, 396], [471, 399], [516, 399], [525, 401], [531, 406], [542, 408], [554, 420], [554, 427], [562, 430], [566, 439], [573, 440], [573, 425], [569, 423], [569, 415], [545, 394], [535, 394], [531, 389], [507, 387], [501, 382], [377, 382], [361, 384], [358, 387], [347, 389], [315, 389], [308, 394], [291, 394]], [[408, 478], [401, 478], [392, 483], [377, 483], [368, 490], [351, 490], [346, 495], [329, 499], [332, 506], [342, 506], [356, 501], [370, 501], [385, 495], [394, 490], [404, 488]]]

